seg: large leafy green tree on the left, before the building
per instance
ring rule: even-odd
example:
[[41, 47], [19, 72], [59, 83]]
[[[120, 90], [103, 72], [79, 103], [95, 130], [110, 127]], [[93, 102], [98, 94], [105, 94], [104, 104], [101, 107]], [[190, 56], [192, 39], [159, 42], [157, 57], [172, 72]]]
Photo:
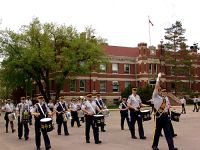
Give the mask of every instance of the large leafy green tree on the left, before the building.
[[45, 100], [50, 99], [50, 79], [55, 81], [56, 96], [64, 81], [98, 68], [107, 61], [102, 50], [104, 39], [95, 37], [87, 27], [79, 33], [72, 26], [40, 23], [34, 18], [19, 32], [0, 31], [0, 50], [4, 55], [0, 79], [4, 86], [15, 89], [31, 85], [39, 88]]

